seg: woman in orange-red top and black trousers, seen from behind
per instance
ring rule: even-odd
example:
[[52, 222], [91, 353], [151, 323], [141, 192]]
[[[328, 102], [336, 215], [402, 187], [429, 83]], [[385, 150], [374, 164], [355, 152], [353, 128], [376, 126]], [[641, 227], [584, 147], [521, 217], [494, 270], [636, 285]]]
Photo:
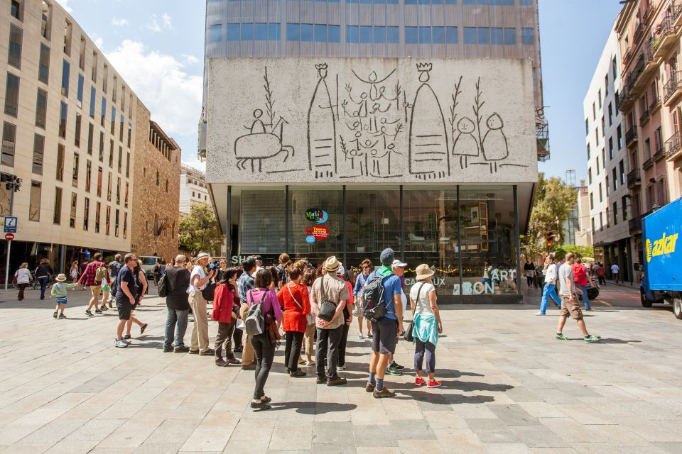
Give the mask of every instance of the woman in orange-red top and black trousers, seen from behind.
[[301, 275], [305, 269], [305, 262], [291, 265], [289, 269], [288, 284], [277, 292], [280, 306], [284, 308], [283, 327], [286, 336], [284, 348], [284, 363], [291, 377], [303, 377], [305, 372], [298, 367], [298, 358], [301, 356], [301, 344], [305, 333], [305, 314], [310, 313], [310, 301], [308, 299], [308, 287], [301, 284]]

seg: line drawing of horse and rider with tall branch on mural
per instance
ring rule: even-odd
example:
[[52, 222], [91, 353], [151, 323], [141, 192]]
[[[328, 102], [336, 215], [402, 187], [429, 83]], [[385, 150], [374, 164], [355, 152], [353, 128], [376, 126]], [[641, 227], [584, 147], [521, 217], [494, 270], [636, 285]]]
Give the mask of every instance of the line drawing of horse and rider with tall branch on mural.
[[[290, 155], [295, 153], [291, 145], [283, 145], [284, 125], [287, 121], [280, 116], [274, 121], [276, 116], [274, 110], [275, 101], [268, 78], [268, 67], [265, 67], [264, 74], [265, 104], [268, 113], [269, 123], [264, 123], [261, 119], [263, 111], [254, 109], [253, 119], [250, 126], [244, 126], [249, 133], [240, 135], [234, 140], [234, 156], [237, 157], [237, 169], [247, 170], [247, 163], [251, 163], [251, 173], [256, 172], [256, 161], [258, 162], [257, 171], [263, 171], [263, 160], [282, 154], [281, 162], [286, 162]], [[274, 124], [273, 124], [274, 123]], [[269, 131], [267, 129], [269, 127]]]

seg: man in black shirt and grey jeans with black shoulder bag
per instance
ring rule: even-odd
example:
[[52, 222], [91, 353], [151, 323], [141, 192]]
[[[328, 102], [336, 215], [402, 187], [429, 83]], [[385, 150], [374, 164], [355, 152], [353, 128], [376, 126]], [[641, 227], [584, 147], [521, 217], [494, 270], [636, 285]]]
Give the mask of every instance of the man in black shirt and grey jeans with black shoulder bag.
[[[185, 332], [190, 312], [189, 295], [190, 272], [185, 268], [185, 256], [175, 257], [175, 266], [166, 268], [166, 333], [163, 337], [163, 352], [186, 353], [190, 348], [185, 345]], [[175, 336], [173, 336], [175, 331]]]

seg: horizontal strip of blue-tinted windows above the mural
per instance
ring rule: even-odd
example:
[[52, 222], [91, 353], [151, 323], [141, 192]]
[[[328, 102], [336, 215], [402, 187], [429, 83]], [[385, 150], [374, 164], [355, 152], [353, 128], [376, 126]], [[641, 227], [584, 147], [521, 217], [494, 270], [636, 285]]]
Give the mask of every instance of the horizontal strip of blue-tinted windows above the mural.
[[[465, 44], [516, 45], [516, 28], [464, 27]], [[406, 44], [457, 44], [458, 27], [405, 26]], [[209, 26], [211, 43], [222, 42], [222, 24]], [[227, 23], [227, 41], [281, 39], [280, 23]], [[286, 40], [310, 43], [340, 43], [341, 26], [333, 24], [287, 23]], [[346, 26], [346, 43], [399, 44], [399, 26]], [[535, 29], [521, 28], [521, 44], [535, 45]]]

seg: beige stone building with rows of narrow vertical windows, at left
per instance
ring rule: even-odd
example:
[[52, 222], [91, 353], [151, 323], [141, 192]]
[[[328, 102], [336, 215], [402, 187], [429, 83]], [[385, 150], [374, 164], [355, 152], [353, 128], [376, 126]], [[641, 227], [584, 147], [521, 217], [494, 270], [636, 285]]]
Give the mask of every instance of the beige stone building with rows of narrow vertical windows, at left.
[[[2, 3], [0, 54], [8, 56], [0, 170], [23, 179], [11, 267], [46, 257], [62, 270], [88, 252], [131, 250], [130, 197], [143, 183], [134, 166], [151, 159], [136, 94], [52, 0]], [[10, 199], [1, 187], [1, 214]]]

